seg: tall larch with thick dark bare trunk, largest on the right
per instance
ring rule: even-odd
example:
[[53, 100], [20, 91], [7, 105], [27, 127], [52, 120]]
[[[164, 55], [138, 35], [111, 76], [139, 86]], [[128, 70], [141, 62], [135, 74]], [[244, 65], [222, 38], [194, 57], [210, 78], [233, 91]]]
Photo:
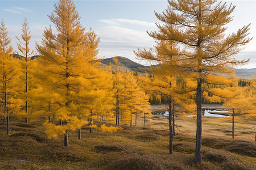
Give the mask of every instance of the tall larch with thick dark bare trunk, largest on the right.
[[242, 45], [251, 40], [247, 38], [250, 24], [225, 36], [225, 25], [232, 21], [234, 8], [233, 5], [217, 3], [215, 0], [170, 0], [168, 8], [162, 14], [155, 12], [156, 18], [162, 24], [156, 24], [159, 31], [150, 32], [149, 35], [158, 43], [164, 41], [168, 44], [171, 41], [177, 48], [171, 45], [167, 50], [162, 48], [170, 54], [164, 58], [158, 58], [152, 51], [138, 52], [139, 57], [152, 56], [146, 59], [157, 59], [172, 73], [197, 83], [195, 163], [201, 162], [201, 97], [204, 91], [202, 85], [222, 83], [211, 73], [229, 73], [229, 67], [247, 62], [237, 61], [233, 56], [240, 52]]

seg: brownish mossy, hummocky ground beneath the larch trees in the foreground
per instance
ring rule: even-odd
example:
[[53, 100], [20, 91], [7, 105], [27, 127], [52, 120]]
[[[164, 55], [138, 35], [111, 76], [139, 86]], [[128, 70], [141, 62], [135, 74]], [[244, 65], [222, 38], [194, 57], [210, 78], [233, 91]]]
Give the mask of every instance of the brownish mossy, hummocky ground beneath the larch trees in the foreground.
[[[195, 122], [176, 118], [174, 154], [168, 154], [167, 118], [155, 119], [147, 127], [129, 127], [116, 133], [87, 126], [69, 133], [69, 147], [63, 137], [48, 139], [43, 120], [29, 122], [13, 118], [11, 134], [0, 122], [0, 169], [255, 169], [256, 146], [250, 130], [237, 128], [238, 139], [226, 135], [229, 122], [203, 118], [203, 162], [194, 164]], [[161, 124], [160, 126], [160, 122]], [[142, 123], [139, 119], [138, 125]], [[96, 121], [96, 124], [101, 122]], [[110, 124], [109, 124], [110, 125]], [[142, 124], [141, 124], [142, 125]], [[238, 126], [237, 126], [238, 127]], [[227, 132], [228, 131], [228, 132]], [[242, 140], [243, 139], [243, 140]], [[245, 140], [246, 139], [246, 140]]]

